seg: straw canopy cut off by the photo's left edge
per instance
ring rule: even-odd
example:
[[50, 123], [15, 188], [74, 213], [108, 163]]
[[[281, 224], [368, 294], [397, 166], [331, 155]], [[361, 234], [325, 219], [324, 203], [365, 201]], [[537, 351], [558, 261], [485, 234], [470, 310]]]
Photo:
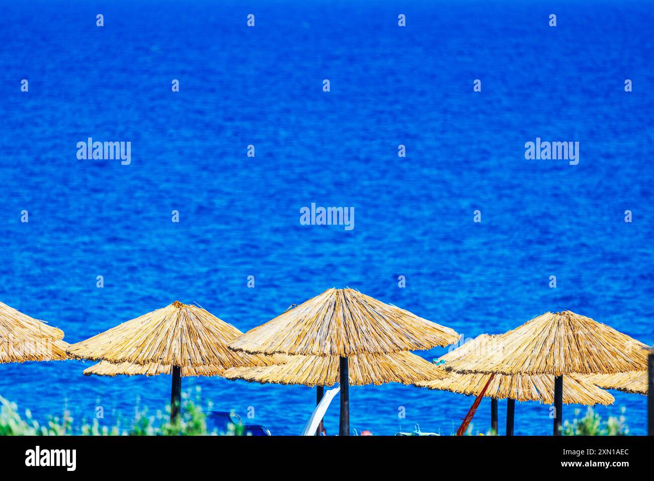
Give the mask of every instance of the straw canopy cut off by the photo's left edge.
[[0, 363], [68, 359], [63, 331], [0, 303]]

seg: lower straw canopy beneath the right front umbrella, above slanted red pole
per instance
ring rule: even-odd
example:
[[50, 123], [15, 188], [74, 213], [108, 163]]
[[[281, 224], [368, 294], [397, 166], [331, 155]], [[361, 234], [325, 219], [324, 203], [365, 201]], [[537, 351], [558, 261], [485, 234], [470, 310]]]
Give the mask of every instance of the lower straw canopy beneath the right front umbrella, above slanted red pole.
[[[477, 396], [488, 382], [490, 374], [450, 372], [443, 380], [419, 382], [419, 388], [451, 391]], [[551, 374], [495, 374], [484, 396], [516, 401], [554, 402], [554, 376]], [[563, 402], [565, 404], [610, 405], [615, 401], [611, 393], [602, 391], [575, 374], [564, 377]]]

